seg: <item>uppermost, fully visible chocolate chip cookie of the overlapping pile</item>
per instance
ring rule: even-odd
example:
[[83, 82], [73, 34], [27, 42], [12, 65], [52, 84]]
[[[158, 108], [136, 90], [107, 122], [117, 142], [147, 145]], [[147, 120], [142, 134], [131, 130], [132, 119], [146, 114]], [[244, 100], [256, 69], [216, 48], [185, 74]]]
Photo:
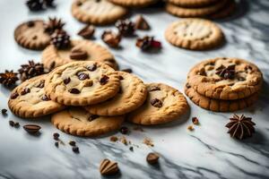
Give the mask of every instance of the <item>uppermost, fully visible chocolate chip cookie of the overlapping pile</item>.
[[112, 98], [119, 90], [119, 76], [106, 64], [86, 61], [65, 64], [50, 72], [46, 94], [66, 106], [88, 106]]

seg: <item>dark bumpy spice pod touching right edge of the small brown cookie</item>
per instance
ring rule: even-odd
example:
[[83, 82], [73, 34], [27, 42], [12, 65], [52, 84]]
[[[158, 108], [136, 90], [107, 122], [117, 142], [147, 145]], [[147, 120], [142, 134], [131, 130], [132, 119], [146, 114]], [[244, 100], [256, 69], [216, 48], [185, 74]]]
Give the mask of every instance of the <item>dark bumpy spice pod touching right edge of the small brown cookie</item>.
[[58, 49], [70, 47], [70, 36], [65, 30], [55, 30], [50, 36], [50, 42]]

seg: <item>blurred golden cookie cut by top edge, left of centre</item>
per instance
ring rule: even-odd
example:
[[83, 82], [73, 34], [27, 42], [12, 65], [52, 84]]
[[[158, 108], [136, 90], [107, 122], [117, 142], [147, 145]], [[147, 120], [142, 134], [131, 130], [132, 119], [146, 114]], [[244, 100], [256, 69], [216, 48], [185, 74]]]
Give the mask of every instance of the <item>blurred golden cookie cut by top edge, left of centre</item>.
[[107, 0], [75, 0], [72, 4], [74, 18], [84, 23], [105, 25], [123, 18], [126, 13], [125, 7]]

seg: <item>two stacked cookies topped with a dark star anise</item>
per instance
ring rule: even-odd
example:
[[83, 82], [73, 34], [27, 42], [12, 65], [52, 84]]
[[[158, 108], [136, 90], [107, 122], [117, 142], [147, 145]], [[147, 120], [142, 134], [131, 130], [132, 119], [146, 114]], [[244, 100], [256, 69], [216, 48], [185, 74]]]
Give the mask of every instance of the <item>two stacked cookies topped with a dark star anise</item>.
[[238, 58], [214, 58], [191, 69], [185, 93], [199, 107], [232, 112], [253, 105], [262, 84], [263, 74], [255, 64]]

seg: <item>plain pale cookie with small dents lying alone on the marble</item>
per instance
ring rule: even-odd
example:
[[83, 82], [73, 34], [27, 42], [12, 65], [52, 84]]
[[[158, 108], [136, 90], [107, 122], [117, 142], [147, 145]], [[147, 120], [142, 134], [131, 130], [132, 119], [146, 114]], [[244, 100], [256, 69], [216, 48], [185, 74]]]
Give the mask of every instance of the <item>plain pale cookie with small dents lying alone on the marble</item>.
[[165, 38], [176, 47], [191, 50], [219, 47], [224, 41], [222, 30], [213, 21], [193, 18], [171, 23]]

